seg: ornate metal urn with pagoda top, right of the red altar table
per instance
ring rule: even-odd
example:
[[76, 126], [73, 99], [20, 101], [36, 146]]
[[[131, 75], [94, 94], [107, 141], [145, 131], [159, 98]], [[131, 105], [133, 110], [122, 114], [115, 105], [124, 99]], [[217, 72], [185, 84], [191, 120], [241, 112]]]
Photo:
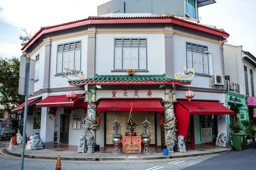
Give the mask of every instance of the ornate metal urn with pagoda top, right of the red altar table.
[[142, 127], [143, 127], [143, 130], [142, 130], [142, 142], [144, 144], [144, 150], [143, 150], [143, 154], [152, 154], [151, 151], [149, 150], [148, 146], [150, 144], [150, 122], [148, 122], [147, 118], [145, 118], [146, 120], [142, 123]]

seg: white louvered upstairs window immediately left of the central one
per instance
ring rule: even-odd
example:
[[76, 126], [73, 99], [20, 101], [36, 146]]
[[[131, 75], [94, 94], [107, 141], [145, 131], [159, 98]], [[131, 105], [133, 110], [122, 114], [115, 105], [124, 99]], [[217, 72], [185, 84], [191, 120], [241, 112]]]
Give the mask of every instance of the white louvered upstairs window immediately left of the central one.
[[64, 73], [65, 69], [81, 70], [81, 41], [58, 45], [56, 73]]

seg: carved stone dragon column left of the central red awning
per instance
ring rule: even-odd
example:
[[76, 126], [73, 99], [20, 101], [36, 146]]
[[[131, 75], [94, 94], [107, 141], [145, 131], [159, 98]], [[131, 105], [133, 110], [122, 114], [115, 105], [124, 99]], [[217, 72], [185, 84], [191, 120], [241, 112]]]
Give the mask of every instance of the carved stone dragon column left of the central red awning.
[[96, 121], [97, 108], [93, 104], [95, 101], [95, 90], [88, 90], [86, 93], [87, 106], [87, 116], [84, 119], [85, 122], [85, 136], [87, 144], [96, 144], [96, 130], [98, 128], [98, 123]]

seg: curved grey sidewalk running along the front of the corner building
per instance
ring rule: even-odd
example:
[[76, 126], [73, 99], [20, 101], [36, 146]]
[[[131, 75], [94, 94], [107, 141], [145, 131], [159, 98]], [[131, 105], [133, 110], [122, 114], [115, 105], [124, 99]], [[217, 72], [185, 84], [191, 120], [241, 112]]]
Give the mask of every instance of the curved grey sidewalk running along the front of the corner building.
[[[3, 144], [3, 143], [2, 143]], [[8, 150], [9, 146], [6, 147], [6, 153], [14, 156], [21, 156], [22, 144], [14, 145], [15, 150]], [[149, 147], [150, 149], [150, 147]], [[109, 160], [145, 160], [145, 159], [169, 159], [169, 158], [181, 158], [189, 156], [201, 156], [209, 155], [214, 153], [222, 153], [232, 150], [229, 147], [218, 147], [215, 149], [205, 150], [187, 150], [186, 153], [169, 153], [169, 155], [163, 155], [163, 152], [152, 152], [151, 155], [139, 154], [126, 154], [111, 155], [109, 152], [95, 152], [95, 153], [77, 153], [76, 151], [68, 150], [27, 150], [25, 149], [25, 157], [39, 158], [39, 159], [57, 159], [58, 155], [61, 156], [61, 160], [86, 160], [86, 161], [109, 161]]]

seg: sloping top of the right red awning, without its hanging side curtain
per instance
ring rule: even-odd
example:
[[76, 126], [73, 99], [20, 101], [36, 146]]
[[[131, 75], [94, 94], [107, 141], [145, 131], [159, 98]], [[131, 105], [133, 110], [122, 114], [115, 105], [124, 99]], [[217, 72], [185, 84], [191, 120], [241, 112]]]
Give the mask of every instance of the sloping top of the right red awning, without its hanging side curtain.
[[189, 110], [190, 114], [234, 114], [218, 102], [179, 100], [178, 103]]

